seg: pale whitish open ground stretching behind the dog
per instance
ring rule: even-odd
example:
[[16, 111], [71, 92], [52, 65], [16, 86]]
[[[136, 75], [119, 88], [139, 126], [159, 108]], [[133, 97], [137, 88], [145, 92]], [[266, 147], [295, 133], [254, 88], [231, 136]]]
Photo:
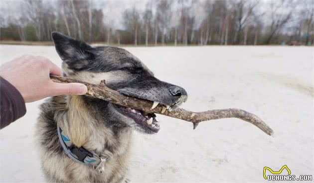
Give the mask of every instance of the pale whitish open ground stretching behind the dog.
[[[283, 165], [297, 177], [314, 174], [314, 47], [126, 49], [157, 78], [186, 89], [182, 108], [241, 108], [275, 131], [268, 136], [238, 119], [203, 122], [193, 130], [189, 122], [158, 115], [156, 135], [135, 133], [132, 182], [265, 183], [263, 168]], [[24, 54], [61, 65], [54, 47], [0, 45], [2, 63]], [[27, 104], [23, 118], [0, 130], [0, 183], [44, 182], [34, 142], [41, 103]]]

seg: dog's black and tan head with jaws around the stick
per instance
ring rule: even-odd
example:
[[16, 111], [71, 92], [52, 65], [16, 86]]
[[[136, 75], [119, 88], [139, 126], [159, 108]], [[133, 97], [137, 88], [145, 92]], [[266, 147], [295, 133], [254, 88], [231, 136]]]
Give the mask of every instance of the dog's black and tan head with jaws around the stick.
[[[128, 51], [116, 47], [91, 47], [58, 32], [52, 33], [56, 50], [63, 60], [64, 74], [82, 81], [99, 84], [105, 79], [109, 88], [120, 93], [175, 108], [186, 101], [186, 91], [158, 80], [151, 70]], [[145, 133], [156, 133], [159, 125], [155, 114], [117, 106], [88, 98], [112, 123], [134, 126]]]

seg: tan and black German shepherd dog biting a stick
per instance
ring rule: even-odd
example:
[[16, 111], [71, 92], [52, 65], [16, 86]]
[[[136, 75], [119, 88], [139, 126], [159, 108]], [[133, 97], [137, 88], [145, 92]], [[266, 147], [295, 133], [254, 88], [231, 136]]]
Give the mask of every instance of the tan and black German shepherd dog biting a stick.
[[[94, 84], [105, 79], [109, 88], [124, 95], [153, 101], [152, 108], [157, 105], [175, 108], [187, 99], [183, 88], [158, 80], [143, 62], [122, 48], [91, 47], [58, 32], [53, 32], [52, 38], [63, 61], [65, 77]], [[127, 182], [134, 129], [148, 134], [159, 130], [155, 114], [89, 96], [51, 97], [40, 110], [36, 136], [48, 182]], [[61, 135], [59, 129], [62, 129]], [[64, 147], [67, 140], [71, 144]], [[80, 153], [75, 154], [74, 150]], [[81, 162], [74, 161], [68, 151]], [[94, 155], [101, 161], [99, 165], [89, 166], [78, 157], [82, 154], [88, 154], [85, 159]]]

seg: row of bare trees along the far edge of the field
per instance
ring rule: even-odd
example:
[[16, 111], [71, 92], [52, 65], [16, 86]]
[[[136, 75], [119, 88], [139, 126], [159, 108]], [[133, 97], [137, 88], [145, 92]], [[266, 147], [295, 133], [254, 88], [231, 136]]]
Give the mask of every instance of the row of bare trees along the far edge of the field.
[[[314, 42], [314, 0], [145, 0], [123, 10], [123, 28], [106, 1], [23, 0], [0, 16], [0, 39], [50, 41], [59, 31], [87, 42], [134, 45], [263, 45]], [[19, 7], [19, 8], [18, 8]]]

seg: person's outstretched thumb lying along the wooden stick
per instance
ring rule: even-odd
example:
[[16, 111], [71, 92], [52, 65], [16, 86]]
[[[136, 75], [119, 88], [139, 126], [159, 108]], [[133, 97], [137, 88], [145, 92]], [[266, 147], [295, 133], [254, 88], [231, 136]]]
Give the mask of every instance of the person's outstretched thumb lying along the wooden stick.
[[53, 96], [84, 95], [87, 92], [87, 86], [82, 83], [54, 83], [51, 92]]

